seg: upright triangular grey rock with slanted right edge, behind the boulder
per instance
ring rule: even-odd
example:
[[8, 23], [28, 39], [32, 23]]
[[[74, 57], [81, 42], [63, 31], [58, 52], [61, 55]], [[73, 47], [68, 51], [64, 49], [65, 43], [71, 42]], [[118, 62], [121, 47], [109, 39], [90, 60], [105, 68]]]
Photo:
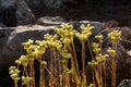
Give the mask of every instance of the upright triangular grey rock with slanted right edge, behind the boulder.
[[16, 5], [17, 5], [16, 10], [17, 25], [35, 23], [35, 15], [33, 14], [33, 12], [31, 11], [31, 9], [28, 8], [24, 0], [19, 0]]

